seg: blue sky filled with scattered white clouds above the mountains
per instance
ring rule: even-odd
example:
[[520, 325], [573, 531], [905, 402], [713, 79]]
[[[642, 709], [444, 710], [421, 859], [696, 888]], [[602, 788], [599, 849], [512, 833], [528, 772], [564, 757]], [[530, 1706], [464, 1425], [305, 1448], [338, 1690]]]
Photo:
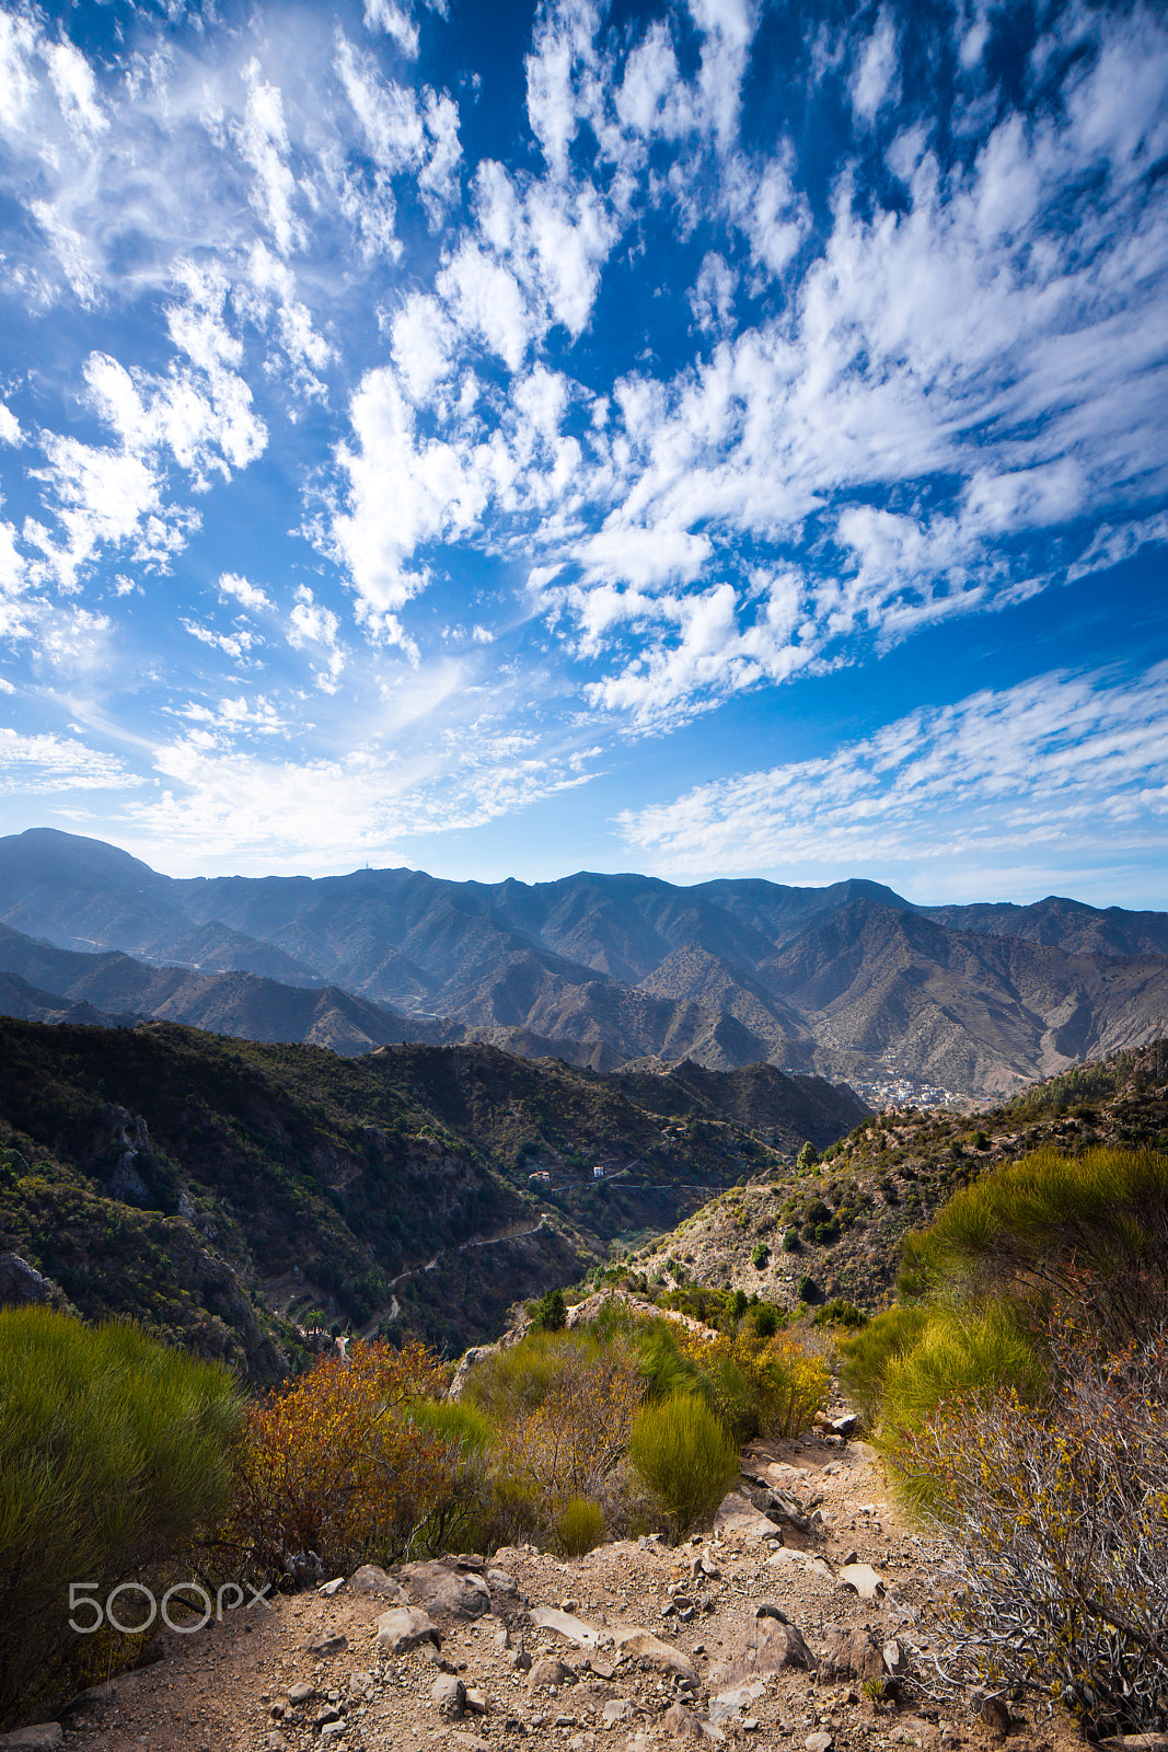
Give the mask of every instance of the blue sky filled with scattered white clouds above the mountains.
[[1168, 25], [0, 9], [0, 830], [1156, 906]]

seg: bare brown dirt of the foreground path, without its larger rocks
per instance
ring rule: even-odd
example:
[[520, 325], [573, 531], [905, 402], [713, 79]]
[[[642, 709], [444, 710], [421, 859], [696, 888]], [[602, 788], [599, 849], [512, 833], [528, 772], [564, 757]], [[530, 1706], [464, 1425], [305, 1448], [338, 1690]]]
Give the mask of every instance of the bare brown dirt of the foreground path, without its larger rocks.
[[[763, 1624], [756, 1615], [763, 1603], [786, 1614], [816, 1657], [837, 1626], [867, 1624], [879, 1643], [897, 1640], [905, 1650], [916, 1649], [914, 1659], [930, 1649], [923, 1617], [930, 1554], [890, 1505], [872, 1452], [862, 1444], [811, 1437], [800, 1444], [755, 1444], [746, 1465], [755, 1473], [777, 1466], [783, 1487], [809, 1515], [823, 1517], [813, 1538], [799, 1540], [811, 1551], [730, 1526], [679, 1549], [658, 1540], [622, 1542], [567, 1563], [534, 1547], [504, 1549], [485, 1566], [485, 1579], [482, 1559], [462, 1568], [464, 1577], [478, 1577], [473, 1586], [480, 1603], [485, 1580], [490, 1610], [476, 1619], [433, 1614], [443, 1635], [440, 1657], [429, 1645], [398, 1659], [376, 1656], [376, 1619], [392, 1605], [387, 1598], [354, 1593], [348, 1584], [334, 1598], [277, 1598], [271, 1607], [226, 1612], [221, 1624], [194, 1635], [163, 1633], [163, 1659], [114, 1682], [68, 1717], [63, 1747], [482, 1752], [525, 1745], [650, 1752], [679, 1743], [678, 1733], [706, 1743], [699, 1722], [721, 1710], [709, 1740], [742, 1740], [758, 1748], [802, 1752], [807, 1736], [827, 1734], [837, 1752], [895, 1745], [989, 1752], [995, 1741], [981, 1722], [963, 1710], [939, 1715], [919, 1699], [914, 1706], [911, 1692], [900, 1710], [874, 1713], [858, 1684], [821, 1685], [800, 1668], [763, 1671], [735, 1691], [732, 1675], [746, 1663], [749, 1680], [751, 1661], [760, 1656], [749, 1649]], [[877, 1600], [865, 1603], [841, 1584], [837, 1572], [853, 1554], [879, 1573]], [[454, 1565], [448, 1573], [455, 1573]], [[408, 1577], [403, 1580], [413, 1589]], [[678, 1594], [681, 1603], [674, 1607]], [[679, 1622], [678, 1612], [688, 1614], [688, 1601], [693, 1615]], [[538, 1628], [538, 1607], [562, 1607], [587, 1621], [599, 1647], [581, 1649], [555, 1629]], [[765, 1622], [776, 1628], [774, 1619]], [[671, 1650], [667, 1664], [692, 1668], [693, 1684], [646, 1664], [648, 1657], [620, 1659], [618, 1640], [634, 1628], [660, 1638]], [[306, 1647], [320, 1636], [341, 1638], [343, 1645], [334, 1654]], [[543, 1659], [567, 1670], [553, 1689], [546, 1684], [550, 1668], [543, 1670], [545, 1684], [532, 1685]], [[527, 1670], [531, 1663], [534, 1671]], [[436, 1682], [478, 1689], [485, 1713], [445, 1719]], [[289, 1689], [296, 1684], [310, 1685], [315, 1696], [292, 1705]], [[727, 1708], [725, 1698], [739, 1692], [739, 1706]], [[1010, 1738], [1012, 1752], [1054, 1747], [1049, 1726], [1021, 1726]]]

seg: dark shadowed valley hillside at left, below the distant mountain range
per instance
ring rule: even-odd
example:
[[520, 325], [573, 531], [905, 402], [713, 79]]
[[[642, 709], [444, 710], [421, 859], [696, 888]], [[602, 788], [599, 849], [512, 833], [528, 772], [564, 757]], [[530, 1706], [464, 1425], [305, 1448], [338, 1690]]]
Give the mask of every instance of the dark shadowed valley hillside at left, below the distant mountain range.
[[489, 1046], [0, 1021], [0, 1254], [259, 1377], [315, 1325], [462, 1349], [863, 1113], [777, 1070], [623, 1083]]

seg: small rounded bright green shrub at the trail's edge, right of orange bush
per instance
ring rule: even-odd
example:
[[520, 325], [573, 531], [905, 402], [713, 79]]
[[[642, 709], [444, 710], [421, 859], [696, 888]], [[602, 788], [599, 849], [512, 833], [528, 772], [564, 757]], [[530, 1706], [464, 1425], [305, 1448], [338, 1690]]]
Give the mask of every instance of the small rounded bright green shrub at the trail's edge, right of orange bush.
[[714, 1512], [739, 1473], [737, 1444], [692, 1393], [641, 1410], [629, 1437], [629, 1458], [674, 1540]]

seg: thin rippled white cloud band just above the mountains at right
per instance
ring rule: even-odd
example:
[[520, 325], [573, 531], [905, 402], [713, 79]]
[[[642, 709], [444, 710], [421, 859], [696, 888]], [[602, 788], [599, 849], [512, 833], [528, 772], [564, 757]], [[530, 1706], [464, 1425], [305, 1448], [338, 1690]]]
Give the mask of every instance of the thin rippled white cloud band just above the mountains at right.
[[625, 811], [620, 829], [690, 872], [1163, 846], [1166, 708], [1168, 664], [1131, 685], [1037, 676], [921, 708], [821, 759]]

